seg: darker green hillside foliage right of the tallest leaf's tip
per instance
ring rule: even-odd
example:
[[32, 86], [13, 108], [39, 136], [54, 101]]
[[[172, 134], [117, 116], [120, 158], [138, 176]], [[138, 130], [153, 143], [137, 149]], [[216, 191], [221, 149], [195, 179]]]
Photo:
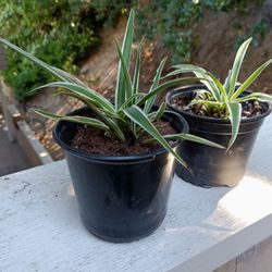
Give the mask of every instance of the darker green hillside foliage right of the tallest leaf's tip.
[[[148, 39], [160, 37], [163, 45], [172, 52], [172, 62], [189, 62], [193, 48], [191, 28], [198, 23], [206, 11], [233, 10], [246, 13], [247, 8], [262, 0], [150, 0], [144, 5], [138, 15], [138, 33], [147, 34]], [[258, 29], [257, 29], [258, 28]], [[252, 33], [239, 37], [237, 47], [249, 36], [263, 35], [265, 22], [258, 25]], [[259, 38], [259, 37], [257, 37]], [[257, 40], [256, 38], [256, 40]]]

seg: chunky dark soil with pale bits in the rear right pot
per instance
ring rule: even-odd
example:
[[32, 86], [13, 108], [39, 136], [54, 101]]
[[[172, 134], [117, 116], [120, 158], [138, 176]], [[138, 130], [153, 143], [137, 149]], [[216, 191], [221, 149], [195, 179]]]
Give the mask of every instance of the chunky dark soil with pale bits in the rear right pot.
[[[188, 96], [176, 96], [171, 100], [172, 107], [177, 110], [183, 110], [188, 113], [199, 115], [199, 116], [207, 116], [207, 118], [214, 118], [214, 119], [224, 119], [224, 112], [213, 111], [213, 108], [210, 108], [209, 111], [205, 109], [203, 104], [191, 104], [189, 102], [191, 98]], [[242, 102], [242, 118], [254, 118], [262, 114], [264, 112], [264, 108], [262, 107], [262, 102], [257, 100], [249, 100], [246, 102]]]

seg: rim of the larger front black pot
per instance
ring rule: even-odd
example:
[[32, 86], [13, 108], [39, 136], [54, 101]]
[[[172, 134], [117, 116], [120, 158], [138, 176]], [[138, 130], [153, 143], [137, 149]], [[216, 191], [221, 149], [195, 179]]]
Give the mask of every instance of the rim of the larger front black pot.
[[[75, 113], [77, 113], [78, 111], [82, 111], [84, 109], [87, 109], [87, 107], [83, 107], [81, 109], [77, 109], [75, 111], [72, 111], [71, 113], [69, 113], [67, 115], [73, 115]], [[183, 126], [183, 133], [188, 133], [189, 127], [187, 124], [187, 121], [178, 113], [176, 112], [166, 112], [163, 115], [173, 115], [174, 119], [178, 120]], [[160, 147], [158, 149], [156, 149], [152, 152], [144, 152], [144, 153], [139, 153], [139, 154], [133, 154], [133, 156], [102, 156], [102, 154], [96, 154], [96, 153], [89, 153], [79, 149], [76, 149], [74, 147], [71, 147], [69, 144], [64, 143], [64, 140], [62, 140], [59, 135], [57, 129], [64, 125], [64, 123], [67, 123], [69, 121], [63, 121], [60, 120], [57, 122], [57, 124], [54, 125], [52, 135], [53, 135], [53, 139], [55, 140], [55, 143], [63, 148], [65, 151], [71, 152], [72, 154], [78, 157], [78, 158], [83, 158], [86, 160], [90, 160], [90, 161], [96, 161], [96, 162], [115, 162], [115, 163], [133, 163], [133, 162], [137, 162], [137, 161], [150, 161], [150, 160], [154, 160], [154, 158], [157, 156], [163, 154], [165, 152], [169, 152], [165, 148]], [[174, 148], [176, 147], [178, 144], [181, 143], [181, 140], [176, 140], [173, 144], [171, 144], [171, 147]]]

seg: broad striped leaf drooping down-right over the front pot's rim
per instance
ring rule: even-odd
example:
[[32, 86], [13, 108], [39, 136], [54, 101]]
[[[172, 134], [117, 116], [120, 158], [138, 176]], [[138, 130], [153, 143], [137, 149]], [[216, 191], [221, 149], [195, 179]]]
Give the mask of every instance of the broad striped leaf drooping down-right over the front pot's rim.
[[154, 125], [150, 122], [147, 114], [137, 106], [132, 106], [124, 110], [125, 114], [140, 127], [143, 127], [148, 134], [150, 134], [162, 147], [164, 147], [174, 158], [185, 168], [187, 163], [171, 148], [169, 143], [158, 132]]

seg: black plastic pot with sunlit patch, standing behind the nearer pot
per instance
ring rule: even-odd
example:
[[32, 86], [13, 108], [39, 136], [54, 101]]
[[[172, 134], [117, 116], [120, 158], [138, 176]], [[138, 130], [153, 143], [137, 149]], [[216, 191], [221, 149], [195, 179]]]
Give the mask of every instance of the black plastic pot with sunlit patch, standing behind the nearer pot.
[[[168, 107], [185, 118], [191, 134], [226, 147], [232, 132], [230, 121], [194, 115], [172, 106], [172, 99], [177, 96], [186, 96], [188, 100], [194, 99], [194, 90], [197, 88], [206, 87], [193, 85], [170, 90], [166, 95]], [[187, 161], [191, 172], [177, 165], [177, 175], [201, 187], [237, 185], [244, 176], [259, 128], [271, 112], [270, 103], [263, 102], [263, 107], [264, 112], [261, 115], [242, 120], [237, 139], [227, 153], [223, 149], [184, 141], [178, 152]]]

